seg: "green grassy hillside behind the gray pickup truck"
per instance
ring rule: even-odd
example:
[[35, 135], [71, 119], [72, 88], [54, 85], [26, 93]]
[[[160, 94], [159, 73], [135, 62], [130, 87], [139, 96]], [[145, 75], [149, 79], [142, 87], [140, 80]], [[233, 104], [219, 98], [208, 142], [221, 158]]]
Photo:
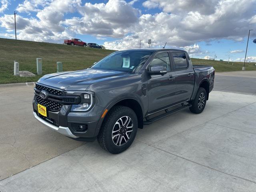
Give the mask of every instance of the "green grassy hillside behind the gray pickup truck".
[[[36, 74], [36, 58], [42, 58], [43, 74], [56, 72], [56, 62], [63, 62], [63, 70], [81, 70], [91, 66], [113, 50], [101, 50], [0, 38], [0, 84], [34, 82], [41, 76], [22, 78], [13, 76], [14, 60], [19, 62], [20, 70]], [[193, 64], [212, 65], [217, 72], [241, 70], [243, 64], [239, 62], [220, 62], [202, 59], [193, 59]], [[256, 70], [255, 64], [246, 64], [246, 70]]]

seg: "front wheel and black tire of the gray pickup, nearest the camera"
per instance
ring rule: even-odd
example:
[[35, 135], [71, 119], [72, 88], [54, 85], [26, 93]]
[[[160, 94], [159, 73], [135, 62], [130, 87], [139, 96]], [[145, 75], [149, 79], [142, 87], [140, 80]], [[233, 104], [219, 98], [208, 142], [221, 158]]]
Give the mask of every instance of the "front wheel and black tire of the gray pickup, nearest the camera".
[[125, 106], [114, 106], [102, 123], [98, 142], [104, 150], [118, 154], [130, 147], [137, 129], [138, 120], [135, 112]]

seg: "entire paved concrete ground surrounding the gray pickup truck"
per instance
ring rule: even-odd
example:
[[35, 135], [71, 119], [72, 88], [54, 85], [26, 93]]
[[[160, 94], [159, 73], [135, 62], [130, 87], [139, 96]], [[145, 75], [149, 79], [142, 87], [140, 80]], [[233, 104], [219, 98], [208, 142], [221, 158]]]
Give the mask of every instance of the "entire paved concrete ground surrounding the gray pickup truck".
[[256, 73], [235, 75], [216, 74], [202, 114], [145, 126], [118, 155], [38, 124], [33, 86], [0, 87], [0, 191], [255, 191]]

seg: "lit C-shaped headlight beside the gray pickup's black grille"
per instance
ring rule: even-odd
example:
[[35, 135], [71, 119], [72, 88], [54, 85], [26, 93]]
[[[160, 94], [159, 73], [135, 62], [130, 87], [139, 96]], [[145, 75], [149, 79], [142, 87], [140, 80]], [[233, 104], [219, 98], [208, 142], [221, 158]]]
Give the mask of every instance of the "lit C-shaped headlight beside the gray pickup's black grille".
[[88, 111], [93, 104], [93, 92], [66, 92], [67, 95], [79, 95], [81, 98], [80, 104], [72, 105], [71, 112], [84, 112]]

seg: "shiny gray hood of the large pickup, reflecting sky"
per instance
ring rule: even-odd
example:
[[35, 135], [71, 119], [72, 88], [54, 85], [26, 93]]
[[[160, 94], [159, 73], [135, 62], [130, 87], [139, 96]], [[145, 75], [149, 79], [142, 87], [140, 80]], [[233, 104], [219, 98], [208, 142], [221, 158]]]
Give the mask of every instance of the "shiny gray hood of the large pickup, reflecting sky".
[[80, 71], [48, 74], [40, 78], [38, 83], [64, 90], [84, 91], [91, 84], [127, 75], [131, 74], [114, 70], [88, 68]]

